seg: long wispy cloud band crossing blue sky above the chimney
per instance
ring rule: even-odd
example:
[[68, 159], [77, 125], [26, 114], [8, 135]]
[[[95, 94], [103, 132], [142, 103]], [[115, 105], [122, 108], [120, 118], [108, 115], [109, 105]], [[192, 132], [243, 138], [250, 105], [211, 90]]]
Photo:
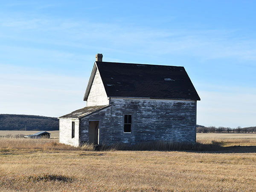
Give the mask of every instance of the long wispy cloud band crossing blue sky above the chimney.
[[[256, 38], [233, 38], [236, 30], [186, 30], [186, 29], [152, 29], [141, 26], [125, 26], [121, 23], [100, 23], [86, 20], [60, 20], [49, 18], [9, 18], [0, 20], [2, 28], [19, 29], [22, 39], [26, 41], [84, 47], [100, 43], [101, 47], [136, 48], [139, 54], [177, 54], [192, 55], [204, 59], [236, 58], [256, 61]], [[37, 35], [25, 35], [32, 30]], [[50, 36], [47, 33], [51, 32]], [[42, 35], [38, 40], [38, 35]], [[13, 33], [13, 38], [15, 33]], [[16, 34], [17, 35], [17, 34]], [[2, 34], [3, 36], [3, 34]], [[10, 36], [9, 36], [10, 38]], [[65, 40], [65, 41], [63, 41]], [[122, 42], [122, 43], [121, 43]], [[48, 42], [49, 43], [49, 42]]]

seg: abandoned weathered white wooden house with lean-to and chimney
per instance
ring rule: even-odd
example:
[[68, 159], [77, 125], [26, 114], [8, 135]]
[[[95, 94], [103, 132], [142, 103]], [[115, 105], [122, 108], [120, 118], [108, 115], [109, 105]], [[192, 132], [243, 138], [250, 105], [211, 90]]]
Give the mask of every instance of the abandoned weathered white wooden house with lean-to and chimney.
[[184, 67], [96, 61], [87, 107], [59, 117], [60, 143], [195, 142], [200, 100]]

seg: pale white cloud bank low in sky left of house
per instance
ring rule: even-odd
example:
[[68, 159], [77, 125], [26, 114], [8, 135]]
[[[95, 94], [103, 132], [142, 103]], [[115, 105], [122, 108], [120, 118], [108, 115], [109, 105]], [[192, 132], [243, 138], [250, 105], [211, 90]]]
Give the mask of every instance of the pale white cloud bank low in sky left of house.
[[0, 113], [61, 116], [86, 106], [87, 77], [3, 64], [0, 69]]

